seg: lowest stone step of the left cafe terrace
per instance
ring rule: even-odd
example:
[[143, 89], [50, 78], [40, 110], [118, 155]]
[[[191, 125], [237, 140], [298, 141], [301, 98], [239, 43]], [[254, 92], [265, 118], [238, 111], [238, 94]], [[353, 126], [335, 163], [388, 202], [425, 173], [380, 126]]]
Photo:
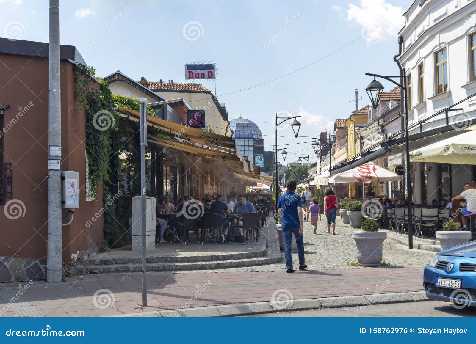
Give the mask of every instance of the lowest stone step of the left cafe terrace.
[[[147, 271], [187, 271], [187, 270], [204, 270], [204, 269], [224, 269], [230, 267], [253, 266], [273, 264], [282, 261], [282, 255], [269, 254], [266, 256], [233, 259], [233, 260], [217, 260], [206, 262], [170, 262], [170, 263], [147, 263]], [[107, 274], [107, 273], [128, 273], [140, 272], [141, 264], [112, 264], [112, 265], [75, 265], [70, 268], [70, 275], [85, 275], [88, 273]]]

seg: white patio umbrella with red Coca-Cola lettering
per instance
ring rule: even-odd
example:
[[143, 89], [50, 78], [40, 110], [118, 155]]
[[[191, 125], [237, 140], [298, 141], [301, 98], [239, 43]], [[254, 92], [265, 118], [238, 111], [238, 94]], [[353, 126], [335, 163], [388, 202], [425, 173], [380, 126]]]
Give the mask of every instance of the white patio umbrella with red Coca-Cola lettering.
[[337, 175], [329, 178], [329, 183], [362, 183], [365, 198], [365, 183], [370, 182], [394, 182], [400, 180], [402, 177], [390, 172], [389, 170], [375, 165], [374, 163], [367, 163], [357, 166], [345, 172], [337, 173]]

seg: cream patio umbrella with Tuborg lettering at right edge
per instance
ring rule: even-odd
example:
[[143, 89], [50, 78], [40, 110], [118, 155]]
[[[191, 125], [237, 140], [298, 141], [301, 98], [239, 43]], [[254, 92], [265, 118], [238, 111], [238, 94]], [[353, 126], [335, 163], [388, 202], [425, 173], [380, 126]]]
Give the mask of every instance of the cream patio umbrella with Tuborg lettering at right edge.
[[410, 152], [410, 161], [476, 165], [474, 130]]

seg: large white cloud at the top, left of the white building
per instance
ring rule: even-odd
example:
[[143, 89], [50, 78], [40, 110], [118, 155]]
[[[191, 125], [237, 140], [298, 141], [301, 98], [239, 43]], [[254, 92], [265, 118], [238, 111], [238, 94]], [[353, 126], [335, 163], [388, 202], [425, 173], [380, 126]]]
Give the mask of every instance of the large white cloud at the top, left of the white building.
[[367, 41], [395, 37], [403, 27], [404, 10], [385, 0], [360, 0], [349, 3], [347, 20], [361, 25], [361, 34]]

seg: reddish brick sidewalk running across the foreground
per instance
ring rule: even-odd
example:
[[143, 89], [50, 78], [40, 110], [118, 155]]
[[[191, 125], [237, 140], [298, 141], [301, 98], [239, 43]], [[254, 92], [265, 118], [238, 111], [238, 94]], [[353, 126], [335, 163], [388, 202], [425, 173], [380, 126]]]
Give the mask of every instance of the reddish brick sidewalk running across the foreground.
[[[148, 275], [148, 306], [141, 303], [140, 274], [68, 277], [50, 285], [0, 287], [0, 316], [109, 316], [276, 301], [281, 297], [372, 295], [422, 290], [422, 267], [359, 267], [274, 272], [193, 272]], [[101, 291], [102, 289], [102, 291]], [[107, 290], [104, 290], [107, 289]], [[19, 291], [23, 293], [19, 296]], [[99, 295], [94, 296], [99, 292]], [[16, 297], [19, 299], [15, 302]]]

